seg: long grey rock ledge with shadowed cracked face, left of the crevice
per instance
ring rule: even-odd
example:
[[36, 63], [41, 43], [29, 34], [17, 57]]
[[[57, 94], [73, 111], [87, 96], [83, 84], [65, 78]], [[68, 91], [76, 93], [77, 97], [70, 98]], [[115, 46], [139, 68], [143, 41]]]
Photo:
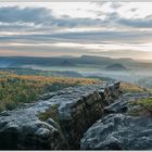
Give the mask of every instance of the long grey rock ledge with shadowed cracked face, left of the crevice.
[[[0, 149], [79, 149], [84, 132], [119, 97], [119, 84], [67, 88], [42, 96], [26, 107], [0, 114]], [[52, 115], [39, 117], [58, 107]]]

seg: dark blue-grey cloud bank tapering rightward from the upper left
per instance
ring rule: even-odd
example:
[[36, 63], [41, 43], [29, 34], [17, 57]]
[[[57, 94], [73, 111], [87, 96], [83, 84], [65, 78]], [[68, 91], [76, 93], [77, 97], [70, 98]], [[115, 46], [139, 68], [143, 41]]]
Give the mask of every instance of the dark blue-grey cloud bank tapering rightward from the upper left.
[[[92, 26], [101, 24], [100, 20], [92, 18], [72, 18], [67, 15], [62, 15], [60, 18], [52, 15], [50, 9], [46, 8], [20, 8], [20, 7], [1, 7], [0, 23], [18, 25], [34, 24], [53, 27], [75, 27], [75, 26]], [[25, 25], [26, 25], [25, 24]], [[51, 28], [51, 27], [50, 27]]]

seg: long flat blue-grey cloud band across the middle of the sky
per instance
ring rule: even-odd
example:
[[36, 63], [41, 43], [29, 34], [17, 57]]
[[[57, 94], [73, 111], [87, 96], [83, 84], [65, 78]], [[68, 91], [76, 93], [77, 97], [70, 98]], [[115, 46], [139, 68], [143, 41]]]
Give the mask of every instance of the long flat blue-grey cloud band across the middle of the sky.
[[1, 42], [80, 42], [80, 43], [144, 43], [150, 42], [152, 31], [67, 31], [56, 34], [28, 34], [0, 36]]

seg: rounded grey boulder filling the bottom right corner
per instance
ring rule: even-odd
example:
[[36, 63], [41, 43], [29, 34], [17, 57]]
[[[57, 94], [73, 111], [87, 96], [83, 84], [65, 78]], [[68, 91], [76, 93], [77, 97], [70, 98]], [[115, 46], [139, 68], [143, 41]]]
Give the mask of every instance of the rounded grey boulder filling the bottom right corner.
[[151, 150], [152, 118], [110, 114], [97, 122], [81, 139], [87, 150]]

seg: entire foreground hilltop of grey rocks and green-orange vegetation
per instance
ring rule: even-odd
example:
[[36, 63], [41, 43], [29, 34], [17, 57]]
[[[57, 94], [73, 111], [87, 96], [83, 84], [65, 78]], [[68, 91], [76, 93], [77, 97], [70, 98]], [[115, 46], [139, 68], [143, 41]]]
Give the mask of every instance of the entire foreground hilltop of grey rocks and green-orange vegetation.
[[0, 149], [151, 150], [151, 90], [110, 81], [1, 69]]

